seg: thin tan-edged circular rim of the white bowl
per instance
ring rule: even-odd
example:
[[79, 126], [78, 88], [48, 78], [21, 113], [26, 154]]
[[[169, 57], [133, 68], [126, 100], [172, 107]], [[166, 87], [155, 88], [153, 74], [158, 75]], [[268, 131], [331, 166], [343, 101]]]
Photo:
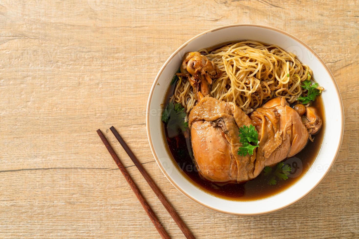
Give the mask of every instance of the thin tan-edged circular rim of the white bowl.
[[[164, 168], [162, 167], [162, 164], [159, 162], [159, 159], [157, 157], [157, 154], [155, 153], [155, 150], [154, 150], [154, 146], [153, 146], [153, 143], [152, 143], [152, 139], [151, 139], [151, 134], [150, 134], [150, 126], [149, 126], [149, 111], [150, 111], [150, 103], [151, 103], [151, 99], [152, 99], [152, 95], [153, 95], [153, 91], [154, 91], [154, 88], [155, 86], [157, 85], [157, 81], [159, 79], [159, 76], [162, 74], [162, 71], [164, 70], [164, 68], [167, 66], [168, 62], [172, 60], [172, 58], [179, 52], [182, 50], [182, 48], [184, 48], [185, 46], [187, 46], [188, 43], [190, 43], [192, 40], [202, 36], [202, 35], [205, 35], [207, 33], [210, 33], [210, 32], [215, 32], [217, 30], [220, 30], [220, 29], [224, 29], [224, 28], [231, 28], [231, 27], [258, 27], [258, 28], [266, 28], [266, 29], [269, 29], [269, 30], [273, 30], [273, 31], [276, 31], [276, 32], [279, 32], [279, 33], [282, 33], [282, 34], [285, 34], [287, 35], [288, 37], [290, 38], [293, 38], [294, 40], [298, 41], [299, 43], [303, 44], [304, 47], [306, 47], [308, 49], [308, 51], [310, 51], [318, 60], [319, 62], [322, 64], [322, 66], [325, 68], [325, 70], [328, 72], [328, 75], [330, 76], [332, 82], [334, 83], [334, 86], [335, 86], [335, 89], [336, 89], [336, 93], [337, 93], [337, 96], [340, 100], [340, 114], [341, 114], [341, 130], [340, 130], [340, 140], [339, 140], [339, 144], [337, 146], [337, 149], [336, 149], [336, 153], [332, 159], [332, 162], [330, 164], [330, 167], [328, 167], [328, 169], [326, 170], [326, 172], [324, 173], [324, 175], [322, 176], [322, 178], [316, 183], [316, 185], [314, 185], [310, 190], [308, 190], [303, 196], [299, 197], [297, 200], [294, 200], [292, 202], [290, 202], [289, 204], [286, 204], [282, 207], [279, 207], [277, 209], [273, 209], [273, 210], [270, 210], [270, 211], [264, 211], [264, 212], [257, 212], [257, 213], [246, 213], [246, 214], [243, 214], [243, 213], [236, 213], [236, 212], [229, 212], [229, 211], [222, 211], [222, 210], [219, 210], [219, 209], [216, 209], [214, 207], [211, 207], [209, 205], [205, 205], [203, 204], [202, 202], [198, 201], [197, 199], [191, 197], [190, 195], [188, 195], [184, 190], [182, 190], [182, 188], [180, 188], [172, 179], [171, 177], [168, 176], [167, 172], [164, 170]], [[158, 164], [159, 168], [161, 169], [162, 173], [164, 174], [164, 176], [167, 178], [167, 180], [169, 182], [172, 183], [172, 185], [177, 188], [178, 191], [180, 191], [183, 195], [187, 196], [189, 199], [195, 201], [197, 204], [201, 205], [201, 206], [204, 206], [208, 209], [211, 209], [211, 210], [214, 210], [214, 211], [217, 211], [217, 212], [222, 212], [222, 213], [225, 213], [225, 214], [233, 214], [233, 215], [243, 215], [243, 216], [252, 216], [252, 215], [263, 215], [263, 214], [269, 214], [269, 213], [272, 213], [272, 212], [276, 212], [276, 211], [279, 211], [279, 210], [282, 210], [282, 209], [285, 209], [286, 207], [289, 207], [295, 203], [297, 203], [298, 201], [302, 200], [304, 197], [306, 197], [307, 195], [309, 195], [309, 193], [311, 193], [323, 180], [324, 178], [328, 175], [328, 173], [330, 172], [333, 164], [335, 163], [336, 161], [336, 158], [339, 154], [339, 150], [340, 150], [340, 147], [341, 147], [341, 144], [342, 144], [342, 139], [343, 139], [343, 134], [344, 134], [344, 108], [343, 108], [343, 102], [342, 102], [342, 99], [341, 99], [341, 95], [340, 95], [340, 91], [339, 91], [339, 88], [338, 88], [338, 85], [332, 75], [332, 73], [330, 72], [329, 68], [326, 66], [325, 62], [317, 55], [317, 53], [315, 53], [312, 48], [310, 48], [306, 43], [304, 43], [302, 40], [298, 39], [297, 37], [294, 37], [293, 35], [287, 33], [287, 32], [284, 32], [283, 30], [280, 30], [280, 29], [277, 29], [277, 28], [274, 28], [274, 27], [269, 27], [269, 26], [265, 26], [265, 25], [258, 25], [258, 24], [230, 24], [230, 25], [224, 25], [222, 27], [217, 27], [217, 28], [213, 28], [213, 29], [210, 29], [210, 30], [207, 30], [205, 32], [202, 32], [198, 35], [196, 35], [195, 37], [192, 37], [191, 39], [187, 40], [187, 42], [183, 43], [180, 47], [178, 47], [176, 49], [176, 51], [174, 51], [171, 56], [165, 61], [165, 63], [163, 64], [163, 66], [160, 68], [159, 72], [157, 73], [157, 76], [155, 77], [155, 80], [152, 84], [152, 87], [151, 87], [151, 90], [150, 90], [150, 94], [149, 94], [149, 97], [148, 97], [148, 101], [147, 101], [147, 107], [146, 107], [146, 131], [147, 131], [147, 137], [148, 137], [148, 141], [149, 141], [149, 144], [150, 144], [150, 148], [151, 148], [151, 152], [155, 158], [155, 161], [156, 163]]]

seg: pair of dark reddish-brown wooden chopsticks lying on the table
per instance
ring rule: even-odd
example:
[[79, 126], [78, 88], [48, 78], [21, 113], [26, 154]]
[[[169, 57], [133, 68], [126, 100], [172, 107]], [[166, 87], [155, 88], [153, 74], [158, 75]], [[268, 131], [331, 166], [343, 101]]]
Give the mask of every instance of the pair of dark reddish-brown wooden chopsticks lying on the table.
[[[146, 172], [140, 161], [137, 159], [135, 154], [132, 152], [132, 150], [129, 148], [129, 146], [126, 144], [125, 140], [122, 139], [121, 135], [117, 132], [115, 127], [110, 128], [113, 135], [115, 135], [116, 139], [120, 144], [122, 145], [122, 148], [126, 151], [128, 156], [132, 159], [132, 162], [136, 165], [137, 169], [140, 171], [142, 176], [145, 178], [147, 183], [150, 185], [154, 193], [157, 195], [158, 199], [162, 202], [165, 209], [167, 209], [168, 213], [172, 216], [173, 220], [176, 222], [178, 227], [181, 229], [182, 233], [186, 236], [186, 238], [195, 238], [194, 235], [192, 235], [191, 231], [187, 228], [186, 224], [183, 223], [180, 216], [178, 216], [177, 212], [173, 209], [172, 205], [169, 204], [166, 197], [163, 195], [162, 191], [157, 187], [155, 182], [152, 180], [152, 178], [149, 176], [149, 174]], [[151, 209], [150, 205], [146, 201], [146, 199], [141, 194], [140, 190], [136, 186], [135, 182], [132, 180], [131, 176], [127, 172], [126, 168], [123, 166], [123, 164], [120, 161], [120, 158], [118, 158], [117, 154], [111, 147], [111, 145], [108, 143], [106, 137], [103, 135], [100, 129], [97, 130], [98, 136], [101, 138], [103, 144], [107, 148], [108, 152], [111, 154], [113, 160], [117, 164], [118, 168], [122, 172], [123, 176], [125, 177], [127, 183], [129, 183], [132, 191], [134, 191], [137, 199], [140, 201], [141, 205], [145, 209], [147, 215], [151, 219], [153, 225], [156, 227], [157, 231], [161, 235], [162, 238], [170, 238], [165, 229], [163, 228], [162, 224], [158, 220], [157, 216]]]

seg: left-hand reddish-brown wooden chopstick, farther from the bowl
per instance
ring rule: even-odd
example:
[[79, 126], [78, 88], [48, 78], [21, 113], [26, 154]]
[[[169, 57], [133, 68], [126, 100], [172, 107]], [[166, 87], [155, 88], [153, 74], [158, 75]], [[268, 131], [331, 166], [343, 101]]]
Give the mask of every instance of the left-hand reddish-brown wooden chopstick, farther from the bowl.
[[117, 154], [115, 153], [115, 151], [113, 150], [111, 145], [108, 143], [106, 137], [103, 135], [103, 133], [101, 132], [100, 129], [98, 129], [96, 132], [97, 132], [98, 136], [101, 138], [103, 144], [106, 146], [108, 152], [111, 154], [111, 156], [112, 156], [113, 160], [115, 161], [115, 163], [117, 164], [118, 168], [121, 170], [121, 172], [122, 172], [123, 176], [125, 177], [126, 181], [129, 183], [132, 191], [134, 191], [137, 199], [142, 204], [143, 208], [147, 212], [147, 215], [151, 219], [153, 225], [155, 225], [155, 227], [156, 227], [157, 231], [159, 232], [159, 234], [161, 235], [161, 237], [164, 238], [164, 239], [170, 238], [169, 235], [167, 234], [167, 232], [164, 230], [162, 224], [158, 220], [156, 214], [151, 209], [150, 205], [148, 205], [146, 199], [142, 196], [140, 190], [136, 186], [135, 182], [132, 180], [132, 178], [129, 175], [129, 173], [127, 172], [126, 168], [121, 163], [121, 161], [118, 158]]

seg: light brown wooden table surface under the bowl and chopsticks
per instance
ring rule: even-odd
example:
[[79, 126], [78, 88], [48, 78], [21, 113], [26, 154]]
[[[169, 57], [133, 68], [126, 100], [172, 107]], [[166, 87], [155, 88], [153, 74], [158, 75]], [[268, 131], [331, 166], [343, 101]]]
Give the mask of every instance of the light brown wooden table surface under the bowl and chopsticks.
[[[0, 237], [159, 238], [99, 139], [102, 129], [173, 238], [183, 234], [108, 128], [114, 125], [198, 238], [359, 237], [359, 1], [0, 0]], [[145, 108], [183, 42], [234, 23], [295, 35], [333, 73], [339, 157], [306, 198], [234, 216], [197, 205], [151, 154]], [[315, 70], [315, 69], [313, 69]]]

